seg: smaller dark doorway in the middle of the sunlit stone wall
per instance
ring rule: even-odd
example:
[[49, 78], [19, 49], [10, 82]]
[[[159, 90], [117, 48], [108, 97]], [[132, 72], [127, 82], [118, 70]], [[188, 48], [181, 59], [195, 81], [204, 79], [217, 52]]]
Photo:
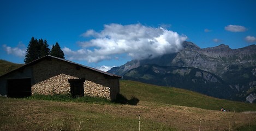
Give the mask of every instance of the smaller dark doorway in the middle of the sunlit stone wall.
[[84, 93], [85, 79], [69, 79], [68, 82], [70, 83], [70, 92], [73, 97], [85, 96], [85, 93]]

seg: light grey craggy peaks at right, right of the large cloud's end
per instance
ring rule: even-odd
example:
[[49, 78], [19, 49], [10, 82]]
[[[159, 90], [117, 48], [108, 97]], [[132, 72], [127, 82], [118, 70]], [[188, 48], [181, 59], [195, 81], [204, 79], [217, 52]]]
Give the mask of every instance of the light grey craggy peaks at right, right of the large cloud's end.
[[[192, 45], [185, 42], [184, 46]], [[194, 67], [214, 73], [221, 78], [230, 67], [246, 68], [256, 65], [256, 45], [241, 49], [230, 49], [228, 45], [221, 44], [205, 49], [193, 46], [185, 47], [177, 53], [171, 61], [172, 66]]]

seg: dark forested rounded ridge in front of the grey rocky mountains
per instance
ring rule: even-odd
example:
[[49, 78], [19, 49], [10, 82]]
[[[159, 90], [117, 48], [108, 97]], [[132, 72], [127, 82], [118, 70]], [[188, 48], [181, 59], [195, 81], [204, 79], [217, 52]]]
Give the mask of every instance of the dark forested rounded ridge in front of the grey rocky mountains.
[[221, 99], [231, 99], [233, 94], [236, 94], [227, 82], [215, 74], [193, 67], [146, 64], [129, 70], [129, 72], [123, 75], [123, 80], [183, 88]]

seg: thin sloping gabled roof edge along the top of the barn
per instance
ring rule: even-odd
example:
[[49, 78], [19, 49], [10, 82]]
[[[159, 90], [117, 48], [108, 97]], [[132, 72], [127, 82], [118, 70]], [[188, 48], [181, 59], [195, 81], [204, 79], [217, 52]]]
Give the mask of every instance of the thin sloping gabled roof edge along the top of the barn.
[[87, 67], [87, 66], [84, 66], [84, 65], [82, 65], [82, 64], [75, 63], [75, 62], [72, 62], [72, 61], [68, 61], [67, 59], [58, 58], [58, 57], [51, 56], [51, 55], [47, 55], [47, 56], [41, 57], [41, 58], [39, 58], [39, 59], [36, 59], [35, 61], [32, 61], [32, 62], [30, 62], [30, 63], [27, 63], [27, 64], [25, 64], [25, 65], [22, 66], [22, 67], [19, 67], [19, 68], [15, 69], [15, 70], [12, 70], [11, 72], [8, 72], [8, 73], [6, 73], [6, 74], [0, 76], [0, 78], [2, 78], [2, 77], [5, 76], [5, 75], [8, 75], [8, 74], [10, 74], [10, 73], [16, 72], [16, 70], [19, 70], [19, 69], [22, 69], [22, 68], [25, 68], [25, 67], [28, 67], [28, 66], [32, 66], [32, 65], [35, 64], [35, 63], [38, 63], [38, 62], [40, 62], [40, 61], [43, 61], [44, 59], [49, 59], [49, 58], [59, 59], [59, 60], [61, 60], [61, 61], [68, 62], [68, 63], [71, 63], [71, 64], [75, 64], [76, 66], [79, 66], [79, 67], [82, 67], [82, 68], [86, 68], [86, 69], [92, 70], [92, 71], [94, 71], [94, 72], [102, 73], [102, 74], [105, 74], [105, 75], [108, 75], [108, 76], [112, 76], [112, 77], [115, 77], [115, 78], [122, 78], [122, 76], [118, 76], [118, 75], [115, 75], [115, 74], [103, 72], [102, 70], [98, 70], [98, 69], [95, 69], [95, 68], [92, 68], [92, 67]]

